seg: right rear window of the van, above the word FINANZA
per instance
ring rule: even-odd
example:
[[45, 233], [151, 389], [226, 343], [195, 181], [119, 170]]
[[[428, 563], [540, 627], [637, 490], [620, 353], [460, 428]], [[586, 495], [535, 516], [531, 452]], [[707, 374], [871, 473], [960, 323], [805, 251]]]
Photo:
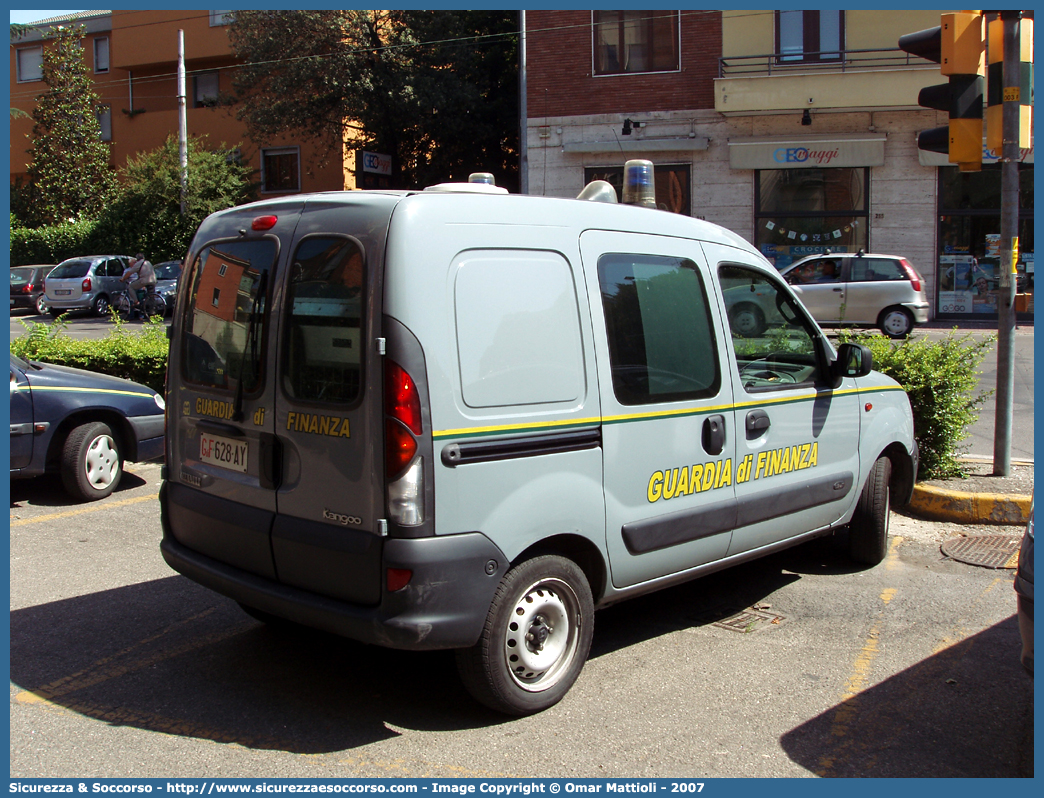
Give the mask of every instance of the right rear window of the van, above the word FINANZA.
[[283, 390], [294, 399], [353, 402], [361, 389], [362, 247], [305, 238], [290, 260]]

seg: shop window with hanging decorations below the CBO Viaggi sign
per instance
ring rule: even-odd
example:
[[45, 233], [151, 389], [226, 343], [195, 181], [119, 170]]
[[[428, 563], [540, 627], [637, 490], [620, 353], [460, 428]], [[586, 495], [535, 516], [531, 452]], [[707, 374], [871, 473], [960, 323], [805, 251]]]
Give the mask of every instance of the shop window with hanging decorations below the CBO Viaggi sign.
[[755, 172], [755, 244], [783, 268], [806, 255], [869, 250], [869, 169]]

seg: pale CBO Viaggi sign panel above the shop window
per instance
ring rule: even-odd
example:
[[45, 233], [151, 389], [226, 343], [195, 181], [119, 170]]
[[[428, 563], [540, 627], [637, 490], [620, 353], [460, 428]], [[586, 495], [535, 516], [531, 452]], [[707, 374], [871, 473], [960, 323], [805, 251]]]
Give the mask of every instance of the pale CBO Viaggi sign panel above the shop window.
[[731, 139], [729, 165], [733, 169], [883, 166], [884, 136]]

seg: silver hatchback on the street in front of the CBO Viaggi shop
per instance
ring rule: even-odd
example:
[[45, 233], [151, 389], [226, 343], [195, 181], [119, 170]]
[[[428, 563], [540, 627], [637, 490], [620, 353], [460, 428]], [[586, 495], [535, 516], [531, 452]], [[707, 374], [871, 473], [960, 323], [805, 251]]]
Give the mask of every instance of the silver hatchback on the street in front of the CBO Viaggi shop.
[[898, 255], [812, 255], [781, 274], [821, 323], [880, 327], [903, 338], [928, 321], [924, 278]]

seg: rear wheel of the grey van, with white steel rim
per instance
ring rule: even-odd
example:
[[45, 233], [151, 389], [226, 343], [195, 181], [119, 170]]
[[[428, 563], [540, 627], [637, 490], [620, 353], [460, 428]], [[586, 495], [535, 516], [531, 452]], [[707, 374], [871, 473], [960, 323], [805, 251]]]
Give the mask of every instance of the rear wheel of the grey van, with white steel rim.
[[488, 707], [539, 712], [573, 686], [593, 631], [584, 571], [563, 557], [536, 557], [504, 576], [478, 642], [457, 652], [457, 670], [468, 691]]

